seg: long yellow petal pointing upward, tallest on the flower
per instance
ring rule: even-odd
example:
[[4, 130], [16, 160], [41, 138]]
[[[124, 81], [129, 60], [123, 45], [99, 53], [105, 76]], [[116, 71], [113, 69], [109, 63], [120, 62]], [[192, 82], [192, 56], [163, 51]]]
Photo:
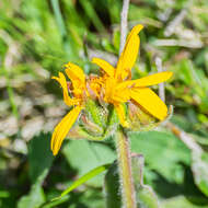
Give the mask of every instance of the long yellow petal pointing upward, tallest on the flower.
[[135, 61], [137, 59], [137, 55], [139, 51], [140, 38], [138, 36], [139, 32], [143, 28], [141, 24], [134, 26], [131, 32], [129, 33], [125, 48], [119, 57], [117, 67], [116, 67], [116, 78], [124, 80], [129, 71], [131, 70]]

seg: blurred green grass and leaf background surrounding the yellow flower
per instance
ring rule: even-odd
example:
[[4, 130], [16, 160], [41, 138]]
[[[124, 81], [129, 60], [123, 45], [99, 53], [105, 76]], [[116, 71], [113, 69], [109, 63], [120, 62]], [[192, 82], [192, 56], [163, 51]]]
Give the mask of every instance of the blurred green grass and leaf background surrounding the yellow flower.
[[[91, 169], [115, 160], [112, 139], [67, 140], [58, 157], [51, 155], [53, 129], [68, 108], [50, 77], [68, 61], [95, 73], [93, 56], [115, 65], [120, 10], [120, 0], [0, 1], [1, 208], [39, 207]], [[198, 154], [166, 126], [130, 136], [132, 152], [146, 159], [145, 183], [162, 208], [208, 207], [207, 11], [207, 0], [130, 1], [129, 30], [145, 25], [134, 77], [157, 72], [155, 58], [162, 59], [163, 69], [174, 72], [165, 86], [166, 104], [174, 106], [171, 122], [200, 149]], [[50, 207], [103, 208], [103, 178]]]

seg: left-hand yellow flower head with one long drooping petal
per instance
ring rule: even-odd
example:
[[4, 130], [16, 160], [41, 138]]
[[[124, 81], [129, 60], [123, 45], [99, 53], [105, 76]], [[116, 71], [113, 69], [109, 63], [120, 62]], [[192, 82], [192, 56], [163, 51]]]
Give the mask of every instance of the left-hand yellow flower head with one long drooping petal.
[[[85, 88], [85, 76], [80, 67], [71, 62], [66, 66], [66, 73], [71, 80], [71, 86], [68, 84], [63, 73], [59, 72], [59, 77], [53, 77], [57, 80], [62, 88], [63, 101], [65, 103], [72, 107], [71, 111], [61, 119], [61, 122], [56, 126], [50, 148], [53, 154], [56, 155], [60, 149], [60, 146], [69, 132], [70, 128], [77, 120], [81, 109], [84, 107], [84, 99], [88, 95]], [[69, 96], [71, 92], [71, 96]]]

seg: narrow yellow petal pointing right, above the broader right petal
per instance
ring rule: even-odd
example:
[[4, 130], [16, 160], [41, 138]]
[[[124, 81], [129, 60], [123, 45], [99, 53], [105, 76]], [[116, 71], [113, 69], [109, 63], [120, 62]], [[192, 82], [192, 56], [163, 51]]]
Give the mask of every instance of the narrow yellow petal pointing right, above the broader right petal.
[[151, 76], [147, 76], [141, 79], [125, 81], [119, 84], [119, 88], [123, 89], [123, 88], [127, 88], [127, 86], [129, 86], [129, 88], [130, 86], [132, 86], [132, 88], [150, 86], [150, 85], [154, 85], [154, 84], [164, 82], [164, 81], [169, 80], [172, 76], [173, 76], [173, 73], [171, 71], [159, 72], [159, 73], [154, 73]]

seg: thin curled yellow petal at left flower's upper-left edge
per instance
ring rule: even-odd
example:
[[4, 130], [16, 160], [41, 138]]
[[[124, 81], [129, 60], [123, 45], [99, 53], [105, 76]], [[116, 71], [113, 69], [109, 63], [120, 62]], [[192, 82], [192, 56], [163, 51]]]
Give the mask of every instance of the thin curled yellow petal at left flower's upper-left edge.
[[63, 73], [61, 73], [61, 72], [59, 72], [58, 74], [59, 74], [59, 77], [53, 77], [51, 79], [59, 82], [59, 84], [62, 88], [63, 101], [67, 105], [71, 106], [73, 102], [72, 102], [72, 99], [69, 96], [69, 93], [68, 93], [66, 78], [65, 78]]

